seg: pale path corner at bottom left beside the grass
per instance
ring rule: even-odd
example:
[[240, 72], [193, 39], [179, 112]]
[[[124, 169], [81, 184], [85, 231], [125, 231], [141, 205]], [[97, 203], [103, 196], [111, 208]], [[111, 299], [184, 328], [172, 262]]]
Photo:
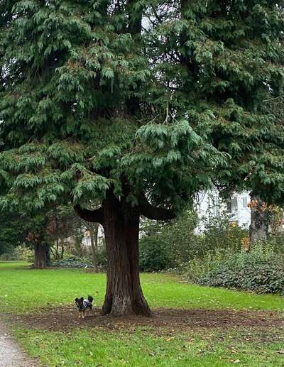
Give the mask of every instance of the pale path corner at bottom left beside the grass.
[[37, 367], [13, 341], [11, 333], [0, 319], [0, 367]]

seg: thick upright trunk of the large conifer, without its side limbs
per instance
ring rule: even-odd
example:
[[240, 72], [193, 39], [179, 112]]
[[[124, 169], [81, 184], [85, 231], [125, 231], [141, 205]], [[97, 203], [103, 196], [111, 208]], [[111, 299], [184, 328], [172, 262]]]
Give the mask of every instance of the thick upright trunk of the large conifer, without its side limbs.
[[107, 245], [107, 292], [102, 314], [151, 315], [143, 296], [138, 268], [139, 213], [108, 195], [103, 203]]

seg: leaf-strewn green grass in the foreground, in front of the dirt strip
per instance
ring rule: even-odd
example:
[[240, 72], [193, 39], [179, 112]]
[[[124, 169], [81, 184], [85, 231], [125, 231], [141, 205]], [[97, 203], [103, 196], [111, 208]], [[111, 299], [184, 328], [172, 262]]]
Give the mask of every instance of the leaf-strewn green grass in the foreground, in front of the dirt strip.
[[72, 330], [68, 334], [18, 330], [16, 336], [32, 356], [50, 367], [212, 367], [230, 366], [238, 360], [241, 366], [277, 367], [284, 363], [278, 354], [283, 338], [274, 332], [268, 332], [264, 341], [263, 334], [247, 330], [170, 337], [155, 336], [151, 329], [132, 333]]

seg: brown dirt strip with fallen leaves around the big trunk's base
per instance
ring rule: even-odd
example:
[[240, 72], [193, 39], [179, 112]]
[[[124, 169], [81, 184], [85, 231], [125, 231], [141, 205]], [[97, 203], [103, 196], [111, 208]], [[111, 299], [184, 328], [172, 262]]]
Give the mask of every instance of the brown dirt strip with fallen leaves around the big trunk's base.
[[257, 310], [180, 310], [158, 308], [152, 317], [111, 317], [102, 316], [96, 308], [82, 319], [70, 307], [42, 309], [36, 314], [13, 317], [13, 322], [24, 324], [25, 328], [67, 331], [71, 328], [86, 329], [163, 329], [166, 331], [186, 331], [193, 329], [230, 329], [234, 327], [283, 328], [284, 313]]

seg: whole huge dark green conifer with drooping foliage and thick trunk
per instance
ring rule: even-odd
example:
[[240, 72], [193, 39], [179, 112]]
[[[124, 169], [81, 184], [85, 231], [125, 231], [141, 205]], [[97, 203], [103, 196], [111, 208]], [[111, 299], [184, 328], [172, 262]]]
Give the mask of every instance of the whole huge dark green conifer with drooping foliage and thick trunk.
[[[278, 5], [276, 4], [278, 3]], [[212, 182], [283, 195], [277, 1], [4, 0], [1, 207], [71, 202], [104, 226], [104, 314], [150, 314], [139, 217]], [[274, 190], [275, 189], [275, 190]]]

